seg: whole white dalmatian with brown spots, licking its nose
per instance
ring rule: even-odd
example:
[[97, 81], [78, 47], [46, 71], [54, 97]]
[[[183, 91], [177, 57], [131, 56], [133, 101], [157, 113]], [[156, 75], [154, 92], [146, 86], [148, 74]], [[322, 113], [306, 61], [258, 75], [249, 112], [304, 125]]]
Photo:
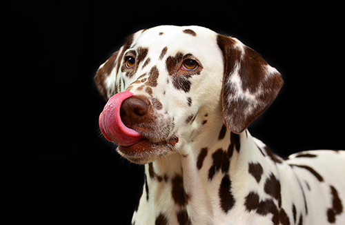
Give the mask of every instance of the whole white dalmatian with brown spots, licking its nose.
[[132, 224], [345, 224], [345, 152], [282, 159], [248, 125], [283, 81], [233, 37], [199, 26], [130, 35], [99, 67], [99, 117], [118, 153], [145, 164]]

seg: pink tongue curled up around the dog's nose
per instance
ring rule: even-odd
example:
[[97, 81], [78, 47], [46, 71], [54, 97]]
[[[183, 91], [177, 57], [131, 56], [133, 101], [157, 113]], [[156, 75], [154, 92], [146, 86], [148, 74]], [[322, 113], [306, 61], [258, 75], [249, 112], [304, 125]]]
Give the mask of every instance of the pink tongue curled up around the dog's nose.
[[124, 125], [120, 117], [122, 101], [133, 95], [132, 92], [125, 91], [112, 96], [99, 115], [99, 127], [104, 137], [120, 146], [131, 146], [143, 139], [139, 132]]

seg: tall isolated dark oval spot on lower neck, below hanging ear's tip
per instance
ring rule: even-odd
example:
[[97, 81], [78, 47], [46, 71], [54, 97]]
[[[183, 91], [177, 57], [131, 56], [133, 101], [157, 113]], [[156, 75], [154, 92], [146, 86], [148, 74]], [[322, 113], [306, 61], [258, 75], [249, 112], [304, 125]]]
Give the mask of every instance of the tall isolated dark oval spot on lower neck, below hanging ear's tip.
[[224, 175], [223, 179], [221, 179], [219, 198], [221, 209], [225, 213], [228, 213], [228, 211], [230, 211], [230, 209], [235, 205], [235, 198], [231, 193], [231, 181], [228, 174]]

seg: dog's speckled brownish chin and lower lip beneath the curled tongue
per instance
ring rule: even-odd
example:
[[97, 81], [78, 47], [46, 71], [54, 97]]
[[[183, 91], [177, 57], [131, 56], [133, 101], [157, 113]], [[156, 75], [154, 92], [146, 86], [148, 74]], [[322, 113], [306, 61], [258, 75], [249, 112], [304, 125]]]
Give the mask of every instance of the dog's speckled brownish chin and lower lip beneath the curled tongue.
[[118, 146], [117, 152], [132, 163], [147, 164], [176, 152], [175, 145], [178, 141], [178, 137], [175, 136], [160, 142], [152, 142], [144, 138], [131, 146]]

